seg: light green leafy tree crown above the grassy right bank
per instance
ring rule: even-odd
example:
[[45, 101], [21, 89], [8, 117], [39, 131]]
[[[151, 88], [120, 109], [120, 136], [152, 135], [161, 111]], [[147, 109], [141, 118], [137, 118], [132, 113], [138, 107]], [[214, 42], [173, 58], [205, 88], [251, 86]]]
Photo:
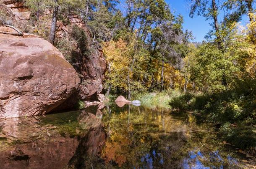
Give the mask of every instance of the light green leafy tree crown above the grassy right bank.
[[224, 89], [221, 84], [223, 75], [226, 75], [228, 82], [232, 82], [238, 72], [239, 67], [233, 64], [234, 57], [230, 53], [222, 53], [211, 44], [200, 46], [195, 54], [196, 63], [190, 70], [191, 80], [203, 91]]

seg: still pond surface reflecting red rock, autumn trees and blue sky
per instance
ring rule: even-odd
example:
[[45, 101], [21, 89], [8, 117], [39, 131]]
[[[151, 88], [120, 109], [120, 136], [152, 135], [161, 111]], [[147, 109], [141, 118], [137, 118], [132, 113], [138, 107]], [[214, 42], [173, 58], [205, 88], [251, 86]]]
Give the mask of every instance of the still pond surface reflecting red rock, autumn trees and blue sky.
[[0, 119], [1, 169], [253, 167], [185, 112], [111, 104]]

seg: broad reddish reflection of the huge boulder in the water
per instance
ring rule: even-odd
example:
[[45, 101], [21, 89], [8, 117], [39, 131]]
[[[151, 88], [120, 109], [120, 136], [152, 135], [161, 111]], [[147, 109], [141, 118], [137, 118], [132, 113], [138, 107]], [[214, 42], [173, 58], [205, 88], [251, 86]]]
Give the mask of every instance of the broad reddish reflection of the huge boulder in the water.
[[78, 146], [76, 139], [60, 136], [34, 117], [1, 119], [0, 123], [0, 135], [7, 141], [0, 145], [3, 169], [63, 168]]

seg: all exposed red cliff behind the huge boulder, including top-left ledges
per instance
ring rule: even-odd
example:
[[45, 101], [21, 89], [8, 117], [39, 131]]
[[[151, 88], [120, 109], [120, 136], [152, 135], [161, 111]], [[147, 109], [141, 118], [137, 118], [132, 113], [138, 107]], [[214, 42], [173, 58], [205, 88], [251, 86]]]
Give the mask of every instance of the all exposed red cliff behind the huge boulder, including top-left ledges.
[[[0, 0], [0, 9], [7, 11], [12, 19], [13, 25], [17, 28], [21, 29], [24, 22], [30, 19], [29, 9], [24, 7], [24, 4], [20, 0]], [[51, 12], [52, 11], [46, 11], [45, 15], [52, 15]], [[56, 36], [60, 39], [68, 38], [70, 40], [72, 38], [72, 26], [77, 25], [84, 30], [88, 37], [88, 45], [94, 49], [90, 55], [83, 55], [79, 49], [77, 51], [72, 51], [73, 53], [76, 53], [76, 58], [79, 58], [77, 62], [73, 64], [76, 72], [80, 74], [82, 82], [78, 86], [78, 97], [87, 102], [102, 102], [104, 100], [104, 95], [102, 94], [102, 81], [104, 81], [104, 73], [107, 68], [102, 48], [93, 42], [93, 35], [89, 29], [86, 28], [85, 23], [78, 15], [71, 14], [68, 18], [71, 23], [69, 25], [57, 21]], [[49, 22], [47, 21], [45, 24], [49, 29], [50, 23], [51, 20], [49, 20]], [[31, 31], [33, 31], [33, 29], [34, 28], [31, 27]]]

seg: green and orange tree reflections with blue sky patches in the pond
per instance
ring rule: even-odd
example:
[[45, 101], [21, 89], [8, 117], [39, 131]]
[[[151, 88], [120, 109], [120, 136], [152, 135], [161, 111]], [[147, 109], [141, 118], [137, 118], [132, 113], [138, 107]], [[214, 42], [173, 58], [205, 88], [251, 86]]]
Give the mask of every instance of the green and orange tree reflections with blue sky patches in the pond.
[[190, 114], [129, 107], [112, 109], [103, 118], [109, 137], [102, 158], [128, 168], [236, 167], [227, 149], [207, 125], [197, 125]]

